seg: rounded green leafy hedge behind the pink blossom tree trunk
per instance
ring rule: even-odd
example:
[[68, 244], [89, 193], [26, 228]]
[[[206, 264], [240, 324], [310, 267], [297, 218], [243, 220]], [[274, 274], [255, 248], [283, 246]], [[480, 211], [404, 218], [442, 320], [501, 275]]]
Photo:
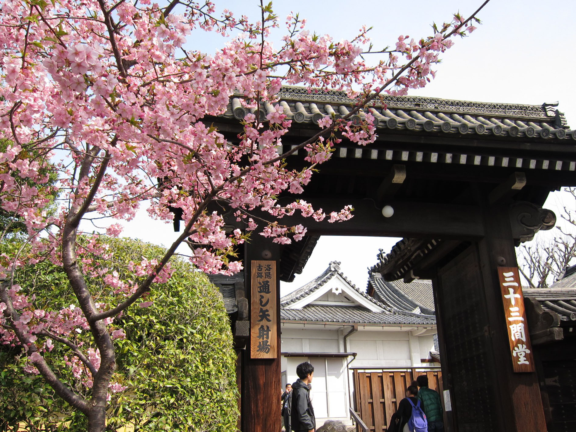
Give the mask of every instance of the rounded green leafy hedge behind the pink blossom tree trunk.
[[[162, 249], [129, 239], [105, 238], [114, 255], [102, 265], [114, 268], [120, 278], [130, 260], [139, 262], [161, 256]], [[236, 355], [228, 315], [218, 289], [206, 275], [181, 259], [168, 283], [156, 284], [146, 298], [150, 308], [132, 306], [116, 319], [127, 338], [115, 340], [118, 370], [114, 380], [127, 389], [115, 393], [108, 407], [107, 430], [134, 425], [136, 431], [233, 431], [238, 418]], [[48, 262], [29, 266], [17, 275], [17, 283], [36, 295], [37, 307], [58, 308], [75, 303], [62, 268]], [[99, 279], [90, 279], [92, 293], [109, 290]], [[79, 335], [91, 346], [88, 335]], [[13, 421], [26, 418], [29, 430], [85, 430], [84, 416], [71, 411], [40, 376], [22, 372], [18, 349], [0, 351], [0, 412]], [[84, 396], [85, 389], [63, 364], [65, 347], [56, 347], [48, 361], [67, 383]], [[48, 422], [48, 418], [59, 418]], [[44, 424], [43, 424], [44, 423]], [[5, 420], [4, 427], [7, 427]], [[2, 427], [0, 426], [0, 430]]]

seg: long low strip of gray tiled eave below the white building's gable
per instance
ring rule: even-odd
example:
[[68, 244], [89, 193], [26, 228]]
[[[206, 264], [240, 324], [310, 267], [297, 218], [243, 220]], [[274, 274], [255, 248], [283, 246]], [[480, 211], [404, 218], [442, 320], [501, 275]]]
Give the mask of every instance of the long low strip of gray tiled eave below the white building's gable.
[[307, 305], [302, 309], [281, 307], [282, 320], [347, 324], [436, 324], [436, 318], [400, 311], [371, 312], [362, 306]]

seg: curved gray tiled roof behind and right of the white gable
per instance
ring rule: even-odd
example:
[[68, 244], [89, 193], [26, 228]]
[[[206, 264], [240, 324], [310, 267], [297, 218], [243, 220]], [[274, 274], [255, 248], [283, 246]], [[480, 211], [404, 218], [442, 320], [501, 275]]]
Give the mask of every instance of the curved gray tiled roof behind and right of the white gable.
[[368, 291], [374, 289], [373, 297], [394, 309], [412, 312], [420, 308], [423, 314], [434, 314], [432, 282], [416, 279], [410, 283], [388, 282], [375, 271], [368, 272]]

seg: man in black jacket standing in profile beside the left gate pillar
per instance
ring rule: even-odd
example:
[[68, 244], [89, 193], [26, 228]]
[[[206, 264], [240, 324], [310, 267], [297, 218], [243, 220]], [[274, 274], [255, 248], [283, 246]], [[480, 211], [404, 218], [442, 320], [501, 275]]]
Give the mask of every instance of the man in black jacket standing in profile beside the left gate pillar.
[[314, 432], [316, 418], [310, 401], [310, 382], [314, 375], [314, 366], [308, 362], [296, 367], [298, 380], [292, 384], [291, 427], [294, 432]]

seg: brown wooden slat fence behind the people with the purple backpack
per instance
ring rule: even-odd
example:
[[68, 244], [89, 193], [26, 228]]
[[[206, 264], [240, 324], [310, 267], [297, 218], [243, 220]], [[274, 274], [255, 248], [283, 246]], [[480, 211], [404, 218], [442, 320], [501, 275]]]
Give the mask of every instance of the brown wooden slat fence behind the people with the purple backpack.
[[442, 394], [440, 370], [354, 369], [356, 410], [370, 431], [386, 432], [392, 414], [406, 397], [406, 387], [422, 374], [428, 377], [429, 387]]

